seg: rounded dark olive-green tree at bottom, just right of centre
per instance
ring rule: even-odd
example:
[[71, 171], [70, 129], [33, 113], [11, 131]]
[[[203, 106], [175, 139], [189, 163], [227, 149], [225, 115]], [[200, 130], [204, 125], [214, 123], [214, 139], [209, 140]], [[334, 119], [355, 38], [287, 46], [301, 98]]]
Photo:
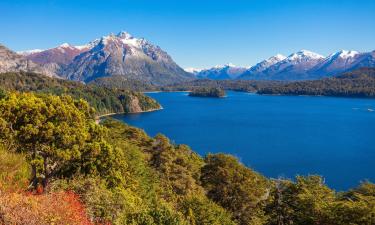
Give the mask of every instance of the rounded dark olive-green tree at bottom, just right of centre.
[[225, 154], [208, 155], [202, 168], [207, 196], [230, 211], [239, 224], [261, 224], [268, 181]]

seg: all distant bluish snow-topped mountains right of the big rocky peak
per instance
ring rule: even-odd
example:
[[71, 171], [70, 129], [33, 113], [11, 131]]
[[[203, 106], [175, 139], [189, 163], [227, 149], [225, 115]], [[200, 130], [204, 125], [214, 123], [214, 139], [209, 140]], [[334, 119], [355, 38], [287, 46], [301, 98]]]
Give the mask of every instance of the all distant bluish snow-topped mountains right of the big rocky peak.
[[[324, 57], [301, 50], [289, 56], [277, 54], [252, 67], [232, 64], [209, 69], [187, 69], [197, 78], [247, 80], [311, 80], [335, 76], [361, 67], [375, 67], [375, 51], [339, 51]], [[233, 72], [234, 71], [234, 72]]]

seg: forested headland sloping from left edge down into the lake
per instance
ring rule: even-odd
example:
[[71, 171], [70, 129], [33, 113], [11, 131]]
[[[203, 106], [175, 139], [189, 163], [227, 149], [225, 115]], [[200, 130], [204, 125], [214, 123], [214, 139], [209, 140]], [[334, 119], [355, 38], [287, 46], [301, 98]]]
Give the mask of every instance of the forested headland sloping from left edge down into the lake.
[[85, 85], [75, 81], [49, 78], [35, 73], [0, 74], [0, 89], [12, 91], [67, 94], [85, 99], [98, 114], [127, 113], [158, 109], [160, 105], [150, 97], [135, 91]]

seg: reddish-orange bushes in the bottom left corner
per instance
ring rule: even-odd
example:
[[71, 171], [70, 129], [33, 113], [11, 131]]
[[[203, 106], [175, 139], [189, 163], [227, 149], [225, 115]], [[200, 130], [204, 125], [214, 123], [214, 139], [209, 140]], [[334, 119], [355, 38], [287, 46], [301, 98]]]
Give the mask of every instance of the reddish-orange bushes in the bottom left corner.
[[73, 192], [34, 195], [0, 191], [0, 215], [0, 224], [92, 224]]

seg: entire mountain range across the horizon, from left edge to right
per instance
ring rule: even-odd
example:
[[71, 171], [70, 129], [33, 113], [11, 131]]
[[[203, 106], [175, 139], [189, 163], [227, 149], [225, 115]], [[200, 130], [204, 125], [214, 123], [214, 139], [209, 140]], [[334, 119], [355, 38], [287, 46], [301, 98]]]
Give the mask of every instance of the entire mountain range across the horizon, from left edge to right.
[[131, 80], [152, 85], [169, 85], [196, 78], [311, 80], [360, 67], [375, 67], [375, 51], [342, 50], [324, 57], [301, 50], [289, 56], [277, 54], [251, 67], [226, 64], [184, 70], [159, 46], [127, 32], [109, 34], [85, 45], [64, 43], [50, 49], [17, 53], [0, 46], [0, 72], [24, 70], [82, 82], [105, 78], [107, 83]]

